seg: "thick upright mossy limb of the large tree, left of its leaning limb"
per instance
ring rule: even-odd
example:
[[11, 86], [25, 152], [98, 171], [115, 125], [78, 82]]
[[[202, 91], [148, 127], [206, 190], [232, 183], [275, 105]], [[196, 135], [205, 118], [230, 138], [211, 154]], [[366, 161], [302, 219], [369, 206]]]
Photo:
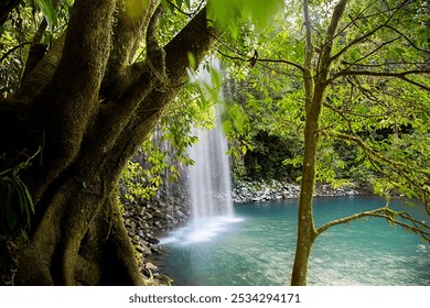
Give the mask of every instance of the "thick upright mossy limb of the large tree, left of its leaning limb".
[[46, 187], [76, 157], [100, 108], [98, 95], [109, 58], [116, 2], [75, 1], [61, 61], [36, 101], [45, 117], [41, 183]]

